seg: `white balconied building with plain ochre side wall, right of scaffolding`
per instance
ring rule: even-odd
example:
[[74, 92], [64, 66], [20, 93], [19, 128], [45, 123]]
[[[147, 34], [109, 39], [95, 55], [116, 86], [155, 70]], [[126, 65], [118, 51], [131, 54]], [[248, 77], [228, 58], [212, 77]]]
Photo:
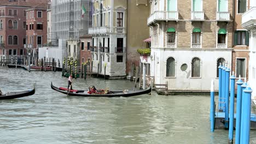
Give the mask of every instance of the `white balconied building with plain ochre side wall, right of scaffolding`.
[[93, 6], [92, 28], [89, 28], [93, 66], [97, 68], [99, 65], [98, 71], [102, 75], [106, 65], [109, 77], [125, 77], [131, 63], [139, 63], [137, 49], [149, 37], [145, 25], [148, 3], [106, 0], [93, 1]]

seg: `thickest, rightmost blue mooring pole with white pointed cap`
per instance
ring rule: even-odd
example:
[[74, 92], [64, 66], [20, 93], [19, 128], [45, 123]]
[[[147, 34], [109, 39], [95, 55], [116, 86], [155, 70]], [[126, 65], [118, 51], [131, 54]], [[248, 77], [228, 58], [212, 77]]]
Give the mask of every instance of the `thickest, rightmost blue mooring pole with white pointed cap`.
[[251, 96], [252, 89], [247, 86], [242, 95], [241, 131], [240, 143], [249, 143], [251, 125]]

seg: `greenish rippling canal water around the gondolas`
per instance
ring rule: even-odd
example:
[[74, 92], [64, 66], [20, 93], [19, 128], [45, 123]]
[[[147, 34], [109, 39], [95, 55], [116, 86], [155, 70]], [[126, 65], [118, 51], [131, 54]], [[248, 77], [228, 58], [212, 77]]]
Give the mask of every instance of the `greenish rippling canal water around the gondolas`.
[[[3, 93], [31, 89], [30, 97], [0, 101], [0, 143], [228, 143], [227, 130], [210, 132], [209, 95], [69, 97], [60, 72], [33, 72], [0, 67]], [[75, 89], [132, 89], [127, 80], [88, 78]], [[255, 131], [251, 141], [256, 143]]]

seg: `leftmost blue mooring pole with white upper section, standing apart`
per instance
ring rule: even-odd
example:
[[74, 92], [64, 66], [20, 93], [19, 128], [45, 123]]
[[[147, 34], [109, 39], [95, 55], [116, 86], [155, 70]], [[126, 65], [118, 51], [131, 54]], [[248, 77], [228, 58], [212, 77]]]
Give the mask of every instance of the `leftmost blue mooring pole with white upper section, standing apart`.
[[215, 101], [214, 101], [214, 81], [211, 81], [211, 107], [210, 107], [210, 121], [211, 132], [214, 131], [214, 119], [215, 119]]

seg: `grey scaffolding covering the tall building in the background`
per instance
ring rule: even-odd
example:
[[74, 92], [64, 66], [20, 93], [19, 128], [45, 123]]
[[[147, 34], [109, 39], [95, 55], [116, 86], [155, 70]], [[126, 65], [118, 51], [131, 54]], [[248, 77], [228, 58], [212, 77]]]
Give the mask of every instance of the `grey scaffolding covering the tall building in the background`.
[[[82, 5], [86, 12], [82, 17]], [[92, 25], [91, 0], [54, 0], [51, 2], [51, 37], [79, 40]]]

